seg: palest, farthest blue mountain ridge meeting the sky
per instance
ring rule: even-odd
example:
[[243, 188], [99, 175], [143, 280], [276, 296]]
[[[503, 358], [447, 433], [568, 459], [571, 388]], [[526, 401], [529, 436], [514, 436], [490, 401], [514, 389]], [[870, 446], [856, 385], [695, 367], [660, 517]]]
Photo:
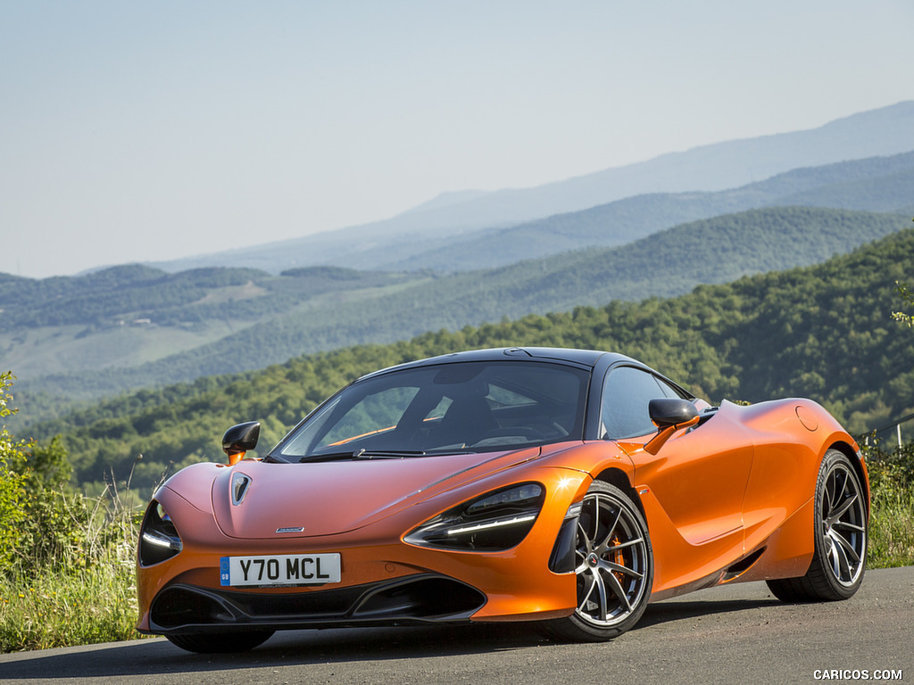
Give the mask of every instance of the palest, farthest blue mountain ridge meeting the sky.
[[[234, 266], [272, 273], [314, 264], [377, 269], [440, 248], [442, 240], [468, 231], [508, 227], [634, 195], [736, 188], [792, 169], [912, 150], [914, 101], [900, 102], [809, 131], [704, 145], [534, 188], [445, 194], [383, 221], [155, 266], [169, 271]], [[353, 192], [357, 197], [358, 189]]]

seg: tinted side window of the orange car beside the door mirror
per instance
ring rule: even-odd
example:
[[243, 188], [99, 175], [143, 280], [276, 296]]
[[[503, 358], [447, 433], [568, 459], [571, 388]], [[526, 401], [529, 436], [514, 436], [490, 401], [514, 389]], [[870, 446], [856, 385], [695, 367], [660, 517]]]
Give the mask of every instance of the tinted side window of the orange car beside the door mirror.
[[603, 383], [601, 437], [615, 439], [653, 433], [657, 427], [648, 414], [648, 403], [669, 396], [678, 395], [673, 388], [661, 385], [652, 374], [631, 366], [613, 369]]

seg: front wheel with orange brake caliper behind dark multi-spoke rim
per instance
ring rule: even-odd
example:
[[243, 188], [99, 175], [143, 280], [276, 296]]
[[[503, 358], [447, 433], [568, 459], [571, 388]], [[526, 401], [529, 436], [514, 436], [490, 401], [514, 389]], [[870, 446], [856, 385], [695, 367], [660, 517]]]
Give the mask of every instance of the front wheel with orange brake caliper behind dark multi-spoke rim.
[[550, 637], [602, 642], [633, 627], [651, 599], [654, 550], [638, 507], [618, 488], [595, 480], [582, 502], [575, 560], [578, 607], [545, 622]]

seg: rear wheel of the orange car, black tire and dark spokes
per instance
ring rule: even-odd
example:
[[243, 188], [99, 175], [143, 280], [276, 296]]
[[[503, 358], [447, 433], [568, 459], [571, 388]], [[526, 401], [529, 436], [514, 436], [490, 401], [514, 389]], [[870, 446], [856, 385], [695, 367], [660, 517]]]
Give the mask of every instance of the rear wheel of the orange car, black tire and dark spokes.
[[866, 494], [850, 459], [829, 449], [815, 484], [813, 562], [805, 575], [768, 581], [784, 602], [830, 602], [855, 595], [866, 571]]

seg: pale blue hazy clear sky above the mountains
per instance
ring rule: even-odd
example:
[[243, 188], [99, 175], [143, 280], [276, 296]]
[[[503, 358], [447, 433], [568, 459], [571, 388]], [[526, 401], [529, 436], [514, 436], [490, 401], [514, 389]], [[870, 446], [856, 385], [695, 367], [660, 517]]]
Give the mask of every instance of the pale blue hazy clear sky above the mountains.
[[911, 0], [0, 0], [0, 272], [243, 248], [914, 100]]

